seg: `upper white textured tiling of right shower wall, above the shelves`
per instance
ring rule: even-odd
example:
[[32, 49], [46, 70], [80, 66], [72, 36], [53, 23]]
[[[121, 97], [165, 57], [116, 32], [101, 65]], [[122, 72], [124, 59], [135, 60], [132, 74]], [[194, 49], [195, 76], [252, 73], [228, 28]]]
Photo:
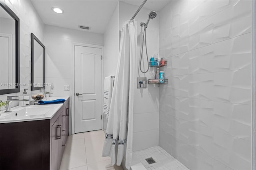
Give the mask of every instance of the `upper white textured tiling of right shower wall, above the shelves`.
[[[223, 2], [216, 3], [212, 0], [192, 2], [182, 0], [180, 3], [170, 3], [170, 6], [176, 7], [175, 9], [171, 7], [169, 12], [166, 9], [170, 6], [162, 10], [164, 12], [161, 11], [161, 14], [163, 13], [166, 20], [160, 20], [160, 22], [166, 23], [160, 26], [160, 32], [166, 31], [164, 37], [161, 36], [162, 33], [160, 34], [160, 50], [170, 49], [169, 52], [165, 51], [165, 57], [251, 32], [252, 1], [230, 0], [226, 2], [221, 4]], [[208, 9], [213, 9], [212, 13], [208, 13]]]

